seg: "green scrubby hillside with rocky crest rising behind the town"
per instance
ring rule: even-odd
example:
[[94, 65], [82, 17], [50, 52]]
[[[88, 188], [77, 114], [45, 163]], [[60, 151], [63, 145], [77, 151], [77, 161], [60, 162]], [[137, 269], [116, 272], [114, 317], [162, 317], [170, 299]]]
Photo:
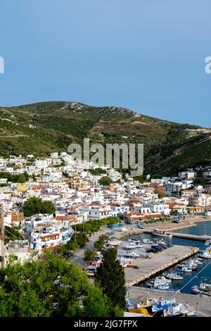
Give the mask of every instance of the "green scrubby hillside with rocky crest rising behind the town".
[[[196, 131], [198, 130], [199, 131]], [[118, 107], [52, 101], [0, 108], [0, 154], [45, 156], [71, 142], [143, 143], [145, 168], [159, 175], [211, 162], [211, 132]]]

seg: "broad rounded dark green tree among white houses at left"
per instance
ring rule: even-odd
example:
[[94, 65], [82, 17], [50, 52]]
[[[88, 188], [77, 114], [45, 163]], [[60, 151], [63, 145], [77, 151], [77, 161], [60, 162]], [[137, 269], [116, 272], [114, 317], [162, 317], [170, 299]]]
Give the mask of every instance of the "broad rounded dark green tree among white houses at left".
[[35, 196], [27, 199], [23, 204], [23, 213], [25, 216], [32, 216], [35, 214], [52, 214], [55, 213], [56, 208], [51, 201], [43, 201]]

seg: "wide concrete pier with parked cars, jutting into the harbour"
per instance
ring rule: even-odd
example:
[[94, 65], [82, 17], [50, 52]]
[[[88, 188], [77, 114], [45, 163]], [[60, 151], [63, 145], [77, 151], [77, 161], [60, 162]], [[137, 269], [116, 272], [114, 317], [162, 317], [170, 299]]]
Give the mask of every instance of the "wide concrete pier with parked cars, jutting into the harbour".
[[127, 268], [124, 270], [126, 283], [129, 286], [137, 285], [139, 282], [143, 282], [180, 261], [197, 254], [198, 251], [198, 247], [179, 245], [153, 254], [151, 258], [136, 258], [134, 263], [138, 268]]

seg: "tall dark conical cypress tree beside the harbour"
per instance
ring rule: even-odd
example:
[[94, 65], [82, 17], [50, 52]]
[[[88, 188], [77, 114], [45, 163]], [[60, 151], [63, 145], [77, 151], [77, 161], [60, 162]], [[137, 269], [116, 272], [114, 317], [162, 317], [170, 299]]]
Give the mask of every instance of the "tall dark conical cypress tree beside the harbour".
[[117, 260], [117, 249], [108, 249], [103, 253], [103, 261], [96, 271], [96, 285], [113, 302], [113, 306], [126, 307], [126, 287], [124, 270]]

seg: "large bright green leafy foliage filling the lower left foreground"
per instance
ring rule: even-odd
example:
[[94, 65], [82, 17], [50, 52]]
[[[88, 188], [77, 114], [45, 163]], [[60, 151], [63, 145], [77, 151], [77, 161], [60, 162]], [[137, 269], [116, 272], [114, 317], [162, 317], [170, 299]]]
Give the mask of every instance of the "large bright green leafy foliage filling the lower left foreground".
[[52, 253], [0, 271], [1, 317], [109, 317], [123, 311], [87, 274]]

